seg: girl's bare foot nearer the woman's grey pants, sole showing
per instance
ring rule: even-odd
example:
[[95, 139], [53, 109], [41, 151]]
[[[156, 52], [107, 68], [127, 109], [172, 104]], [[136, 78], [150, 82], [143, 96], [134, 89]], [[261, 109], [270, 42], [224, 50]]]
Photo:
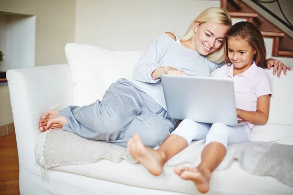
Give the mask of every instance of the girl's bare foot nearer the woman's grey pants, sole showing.
[[126, 148], [134, 159], [146, 167], [149, 173], [154, 176], [159, 176], [162, 173], [163, 160], [165, 159], [165, 154], [163, 152], [144, 146], [137, 134], [133, 135], [133, 137], [127, 141]]

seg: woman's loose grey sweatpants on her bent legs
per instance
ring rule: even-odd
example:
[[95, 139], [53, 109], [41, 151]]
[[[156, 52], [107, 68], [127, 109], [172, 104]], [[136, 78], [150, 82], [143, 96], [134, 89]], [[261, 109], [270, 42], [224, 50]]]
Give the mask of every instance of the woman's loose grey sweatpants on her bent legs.
[[130, 81], [122, 78], [105, 92], [102, 101], [88, 106], [68, 106], [59, 116], [68, 124], [63, 130], [81, 137], [126, 146], [138, 134], [148, 147], [160, 145], [174, 130], [177, 120]]

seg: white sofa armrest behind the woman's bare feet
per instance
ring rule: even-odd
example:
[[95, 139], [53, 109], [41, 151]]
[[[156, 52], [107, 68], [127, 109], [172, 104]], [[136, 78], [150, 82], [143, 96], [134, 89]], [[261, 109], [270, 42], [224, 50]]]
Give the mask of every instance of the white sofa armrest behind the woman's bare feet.
[[17, 139], [20, 169], [35, 165], [39, 121], [47, 110], [72, 104], [73, 86], [68, 64], [13, 69], [6, 73]]

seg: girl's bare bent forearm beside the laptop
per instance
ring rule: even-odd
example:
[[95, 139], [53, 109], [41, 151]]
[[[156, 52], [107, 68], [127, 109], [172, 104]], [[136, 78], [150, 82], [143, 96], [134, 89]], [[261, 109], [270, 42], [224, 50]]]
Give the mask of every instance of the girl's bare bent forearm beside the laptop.
[[253, 124], [264, 125], [268, 121], [270, 111], [270, 95], [257, 98], [256, 111], [246, 111], [237, 108], [237, 117], [251, 121]]

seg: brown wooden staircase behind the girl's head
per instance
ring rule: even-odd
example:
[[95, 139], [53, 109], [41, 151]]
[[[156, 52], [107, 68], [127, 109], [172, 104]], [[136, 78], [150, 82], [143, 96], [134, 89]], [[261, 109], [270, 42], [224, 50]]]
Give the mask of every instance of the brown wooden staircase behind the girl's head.
[[293, 38], [280, 30], [271, 21], [259, 15], [242, 0], [221, 0], [221, 8], [226, 9], [231, 18], [246, 19], [254, 23], [263, 37], [272, 38], [272, 56], [293, 58]]

